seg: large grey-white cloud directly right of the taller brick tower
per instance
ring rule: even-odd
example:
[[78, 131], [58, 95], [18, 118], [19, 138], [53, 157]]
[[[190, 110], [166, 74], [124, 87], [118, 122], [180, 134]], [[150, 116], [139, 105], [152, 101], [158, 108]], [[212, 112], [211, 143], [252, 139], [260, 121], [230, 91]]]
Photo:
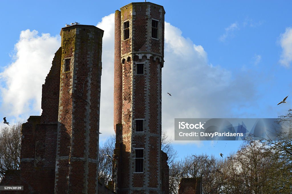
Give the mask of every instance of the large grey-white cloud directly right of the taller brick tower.
[[174, 118], [239, 117], [241, 111], [237, 110], [241, 106], [253, 104], [251, 99], [256, 92], [250, 72], [232, 73], [209, 64], [204, 48], [183, 37], [180, 29], [168, 22], [165, 22], [164, 60], [162, 127], [172, 137]]

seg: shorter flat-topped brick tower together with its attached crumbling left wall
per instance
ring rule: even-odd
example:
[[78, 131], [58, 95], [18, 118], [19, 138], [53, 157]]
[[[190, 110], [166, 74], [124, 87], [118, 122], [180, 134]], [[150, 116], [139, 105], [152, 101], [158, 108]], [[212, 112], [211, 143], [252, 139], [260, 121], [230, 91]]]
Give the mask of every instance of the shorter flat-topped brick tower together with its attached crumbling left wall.
[[11, 193], [111, 193], [98, 183], [103, 30], [72, 25], [60, 35], [42, 88], [43, 112], [22, 125], [21, 170], [1, 185], [24, 186]]

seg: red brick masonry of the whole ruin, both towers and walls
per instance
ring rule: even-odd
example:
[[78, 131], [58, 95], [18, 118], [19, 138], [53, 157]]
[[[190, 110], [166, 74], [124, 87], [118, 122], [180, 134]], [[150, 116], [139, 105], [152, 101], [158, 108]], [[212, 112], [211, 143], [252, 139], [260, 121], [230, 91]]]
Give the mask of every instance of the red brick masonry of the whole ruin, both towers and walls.
[[[161, 151], [164, 14], [150, 2], [115, 13], [113, 190], [118, 194], [169, 193], [168, 158]], [[151, 37], [152, 19], [158, 21], [157, 39]], [[42, 115], [22, 125], [20, 170], [7, 172], [0, 183], [25, 190], [5, 193], [114, 193], [98, 180], [103, 31], [72, 25], [60, 35], [42, 89]], [[137, 74], [139, 63], [143, 74]], [[143, 119], [143, 132], [135, 131], [135, 119]], [[143, 148], [142, 173], [135, 173], [135, 148]], [[199, 192], [200, 179], [182, 179], [180, 194]]]

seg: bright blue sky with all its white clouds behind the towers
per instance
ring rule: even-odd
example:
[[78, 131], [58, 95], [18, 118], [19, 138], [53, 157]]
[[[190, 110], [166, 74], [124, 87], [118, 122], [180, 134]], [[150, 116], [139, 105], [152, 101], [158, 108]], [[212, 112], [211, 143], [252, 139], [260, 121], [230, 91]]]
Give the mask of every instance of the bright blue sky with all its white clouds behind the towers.
[[[164, 6], [162, 127], [174, 118], [276, 118], [292, 91], [290, 1], [150, 1]], [[40, 115], [41, 85], [65, 23], [105, 30], [101, 141], [113, 134], [113, 15], [131, 1], [0, 1], [0, 115]], [[290, 79], [289, 79], [290, 78]], [[167, 92], [173, 96], [169, 97]], [[240, 142], [174, 142], [180, 157], [227, 155]]]

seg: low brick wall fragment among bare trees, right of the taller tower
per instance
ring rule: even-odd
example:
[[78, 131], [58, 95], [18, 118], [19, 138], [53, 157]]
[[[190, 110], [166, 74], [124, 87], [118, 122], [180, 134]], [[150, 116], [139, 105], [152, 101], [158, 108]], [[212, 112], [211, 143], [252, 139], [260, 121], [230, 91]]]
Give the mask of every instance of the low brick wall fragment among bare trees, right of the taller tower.
[[178, 194], [201, 194], [201, 178], [182, 178], [178, 185]]

